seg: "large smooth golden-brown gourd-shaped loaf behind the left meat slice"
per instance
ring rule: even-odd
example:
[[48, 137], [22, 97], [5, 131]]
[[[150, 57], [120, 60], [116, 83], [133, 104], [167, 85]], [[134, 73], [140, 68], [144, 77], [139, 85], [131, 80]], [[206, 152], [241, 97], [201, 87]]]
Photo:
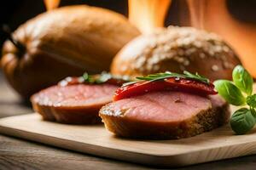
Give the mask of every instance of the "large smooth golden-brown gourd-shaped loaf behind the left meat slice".
[[57, 8], [17, 29], [13, 37], [26, 50], [5, 42], [1, 64], [11, 86], [27, 99], [64, 77], [108, 71], [113, 56], [138, 34], [124, 16], [108, 9]]

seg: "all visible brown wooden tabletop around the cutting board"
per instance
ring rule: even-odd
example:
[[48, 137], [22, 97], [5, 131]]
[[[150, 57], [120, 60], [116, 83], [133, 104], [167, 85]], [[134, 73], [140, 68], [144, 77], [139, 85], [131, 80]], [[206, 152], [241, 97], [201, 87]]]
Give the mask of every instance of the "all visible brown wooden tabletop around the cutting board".
[[[32, 112], [22, 104], [0, 71], [0, 118]], [[0, 135], [0, 169], [152, 169], [142, 165], [115, 161], [62, 150], [44, 144]], [[255, 169], [256, 156], [243, 156], [178, 169]]]

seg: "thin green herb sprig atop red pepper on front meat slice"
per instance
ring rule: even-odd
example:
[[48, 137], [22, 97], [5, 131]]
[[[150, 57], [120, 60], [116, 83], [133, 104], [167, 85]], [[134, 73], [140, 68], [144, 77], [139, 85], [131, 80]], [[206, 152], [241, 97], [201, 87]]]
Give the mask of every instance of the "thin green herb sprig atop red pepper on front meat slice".
[[199, 82], [204, 82], [206, 84], [210, 83], [209, 79], [207, 79], [206, 77], [202, 77], [198, 73], [192, 74], [189, 71], [183, 71], [183, 74], [178, 74], [178, 73], [166, 71], [166, 72], [162, 72], [162, 73], [150, 74], [146, 77], [136, 77], [137, 81], [127, 82], [127, 83], [123, 84], [123, 86], [128, 86], [128, 85], [131, 85], [131, 84], [134, 84], [137, 82], [141, 82], [141, 81], [148, 81], [148, 82], [160, 81], [160, 80], [164, 80], [164, 79], [170, 78], [170, 77], [188, 78], [188, 79], [196, 80]]

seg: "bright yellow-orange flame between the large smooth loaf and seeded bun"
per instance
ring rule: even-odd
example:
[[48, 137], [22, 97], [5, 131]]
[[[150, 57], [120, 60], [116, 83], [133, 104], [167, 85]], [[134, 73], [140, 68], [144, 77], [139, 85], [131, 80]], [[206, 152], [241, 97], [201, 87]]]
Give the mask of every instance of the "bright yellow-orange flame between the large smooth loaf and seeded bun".
[[129, 20], [143, 33], [163, 27], [172, 0], [129, 0]]

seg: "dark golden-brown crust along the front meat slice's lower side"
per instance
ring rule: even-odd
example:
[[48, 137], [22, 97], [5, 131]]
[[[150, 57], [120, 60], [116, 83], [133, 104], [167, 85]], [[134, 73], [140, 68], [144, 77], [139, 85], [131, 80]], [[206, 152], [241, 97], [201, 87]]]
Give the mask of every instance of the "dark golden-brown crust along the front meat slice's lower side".
[[[108, 107], [108, 105], [104, 106]], [[101, 110], [102, 111], [102, 110]], [[201, 111], [189, 120], [177, 124], [169, 122], [141, 122], [102, 114], [105, 127], [112, 133], [135, 139], [181, 139], [211, 131], [224, 125], [230, 119], [230, 106], [227, 103], [207, 111]]]

